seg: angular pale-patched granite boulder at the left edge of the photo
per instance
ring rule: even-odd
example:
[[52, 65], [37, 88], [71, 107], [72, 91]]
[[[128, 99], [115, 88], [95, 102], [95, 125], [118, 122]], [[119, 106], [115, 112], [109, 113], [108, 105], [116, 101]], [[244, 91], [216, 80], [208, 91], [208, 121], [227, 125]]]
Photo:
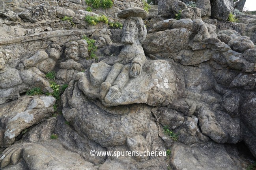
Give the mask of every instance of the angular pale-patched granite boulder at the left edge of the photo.
[[1, 105], [0, 113], [4, 143], [9, 146], [15, 142], [23, 130], [49, 117], [53, 112], [55, 98], [52, 96], [25, 96]]

